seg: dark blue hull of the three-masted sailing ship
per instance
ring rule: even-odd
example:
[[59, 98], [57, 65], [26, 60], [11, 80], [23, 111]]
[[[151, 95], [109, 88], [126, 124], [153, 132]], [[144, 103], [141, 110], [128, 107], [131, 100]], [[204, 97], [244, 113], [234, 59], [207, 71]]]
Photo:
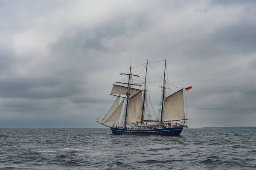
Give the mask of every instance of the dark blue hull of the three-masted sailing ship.
[[113, 135], [163, 135], [163, 136], [179, 136], [183, 127], [168, 127], [163, 129], [122, 129], [111, 127]]

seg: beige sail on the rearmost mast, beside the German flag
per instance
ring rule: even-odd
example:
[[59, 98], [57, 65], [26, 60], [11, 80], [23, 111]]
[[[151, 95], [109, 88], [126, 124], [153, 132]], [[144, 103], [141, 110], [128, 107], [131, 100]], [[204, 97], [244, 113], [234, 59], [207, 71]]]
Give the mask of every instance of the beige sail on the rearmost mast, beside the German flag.
[[163, 106], [163, 121], [185, 119], [183, 89], [166, 97]]

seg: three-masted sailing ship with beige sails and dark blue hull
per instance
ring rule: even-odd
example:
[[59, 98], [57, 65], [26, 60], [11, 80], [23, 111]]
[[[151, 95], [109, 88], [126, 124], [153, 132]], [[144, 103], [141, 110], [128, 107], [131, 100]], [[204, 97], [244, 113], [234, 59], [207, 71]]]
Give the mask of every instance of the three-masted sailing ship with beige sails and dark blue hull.
[[[166, 59], [163, 61], [165, 61], [163, 79], [161, 78], [163, 86], [160, 86], [162, 96], [157, 116], [154, 119], [148, 119], [150, 116], [147, 115], [147, 60], [145, 63], [145, 81], [143, 82], [144, 89], [134, 88], [142, 85], [134, 83], [133, 77], [140, 76], [131, 72], [130, 65], [127, 73], [120, 73], [120, 75], [128, 78], [126, 79], [128, 82], [113, 84], [111, 95], [116, 99], [104, 118], [101, 121], [98, 118], [96, 122], [110, 127], [113, 135], [179, 136], [183, 128], [188, 127], [186, 125], [188, 119], [185, 117], [184, 91], [189, 91], [192, 87], [178, 89], [178, 91], [166, 97]], [[121, 102], [120, 99], [122, 99]], [[121, 115], [122, 121], [120, 121]]]

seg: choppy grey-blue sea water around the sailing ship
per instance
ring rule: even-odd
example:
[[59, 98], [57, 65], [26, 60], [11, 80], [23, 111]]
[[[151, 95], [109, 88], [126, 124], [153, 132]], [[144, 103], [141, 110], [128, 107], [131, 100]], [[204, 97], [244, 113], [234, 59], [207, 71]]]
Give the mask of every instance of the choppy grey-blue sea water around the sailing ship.
[[256, 170], [256, 130], [0, 129], [0, 170]]

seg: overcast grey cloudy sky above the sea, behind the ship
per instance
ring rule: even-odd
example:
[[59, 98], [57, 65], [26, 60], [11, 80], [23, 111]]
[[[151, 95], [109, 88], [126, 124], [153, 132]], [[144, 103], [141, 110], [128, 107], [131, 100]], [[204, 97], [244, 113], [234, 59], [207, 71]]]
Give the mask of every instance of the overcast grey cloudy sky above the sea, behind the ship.
[[[256, 126], [255, 8], [253, 0], [0, 0], [0, 127], [103, 127], [95, 119], [119, 73], [130, 61], [165, 58], [169, 82], [193, 88], [189, 127]], [[162, 74], [163, 64], [151, 66]]]

